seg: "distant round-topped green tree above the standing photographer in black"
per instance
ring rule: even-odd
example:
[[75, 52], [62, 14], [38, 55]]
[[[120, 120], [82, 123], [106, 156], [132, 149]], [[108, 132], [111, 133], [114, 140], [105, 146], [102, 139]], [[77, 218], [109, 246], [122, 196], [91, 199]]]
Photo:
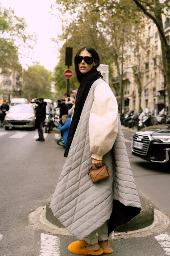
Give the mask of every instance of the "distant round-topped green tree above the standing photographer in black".
[[33, 98], [51, 98], [51, 72], [43, 66], [30, 66], [23, 75], [23, 97], [28, 100]]

